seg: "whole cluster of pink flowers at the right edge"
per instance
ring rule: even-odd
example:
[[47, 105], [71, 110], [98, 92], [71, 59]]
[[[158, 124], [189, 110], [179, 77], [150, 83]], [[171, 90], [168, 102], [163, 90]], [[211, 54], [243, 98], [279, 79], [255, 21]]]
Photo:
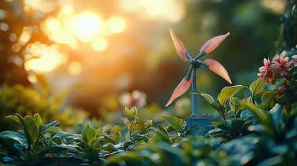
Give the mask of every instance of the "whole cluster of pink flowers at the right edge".
[[279, 82], [280, 79], [287, 78], [291, 65], [297, 66], [297, 55], [292, 56], [292, 58], [292, 60], [289, 60], [285, 51], [280, 55], [275, 55], [272, 61], [270, 61], [269, 57], [267, 59], [264, 58], [264, 66], [259, 68], [260, 73], [257, 75], [264, 77], [266, 82], [271, 82], [272, 84], [276, 81]]

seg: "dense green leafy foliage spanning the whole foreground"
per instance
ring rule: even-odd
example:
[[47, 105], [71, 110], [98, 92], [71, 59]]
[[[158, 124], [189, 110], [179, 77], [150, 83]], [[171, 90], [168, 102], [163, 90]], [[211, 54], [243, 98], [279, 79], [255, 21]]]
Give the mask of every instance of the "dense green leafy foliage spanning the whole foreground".
[[[204, 95], [209, 97], [208, 95]], [[90, 122], [81, 134], [43, 124], [39, 114], [8, 116], [22, 125], [20, 131], [0, 133], [1, 163], [13, 165], [294, 165], [297, 163], [297, 107], [289, 113], [275, 104], [269, 111], [252, 100], [229, 99], [237, 118], [214, 122], [206, 137], [193, 137], [185, 122], [162, 116], [164, 127], [152, 120], [144, 129], [128, 130], [137, 120], [137, 108], [124, 109], [128, 137], [123, 127], [96, 129]], [[211, 100], [212, 101], [212, 100]], [[128, 119], [129, 118], [129, 119]], [[136, 120], [136, 121], [135, 121]], [[37, 127], [37, 128], [36, 128]], [[132, 129], [132, 128], [131, 128]], [[132, 132], [132, 134], [130, 134]], [[130, 137], [131, 136], [131, 137]], [[36, 138], [37, 137], [37, 138]]]

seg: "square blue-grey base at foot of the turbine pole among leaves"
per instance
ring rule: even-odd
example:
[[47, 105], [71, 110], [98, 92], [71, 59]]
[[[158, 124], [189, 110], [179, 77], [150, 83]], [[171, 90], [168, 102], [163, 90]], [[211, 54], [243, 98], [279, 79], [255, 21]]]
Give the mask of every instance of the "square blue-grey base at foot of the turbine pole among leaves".
[[193, 136], [204, 136], [205, 133], [212, 129], [212, 115], [203, 114], [202, 117], [188, 117], [187, 118], [187, 129], [197, 125], [192, 129]]

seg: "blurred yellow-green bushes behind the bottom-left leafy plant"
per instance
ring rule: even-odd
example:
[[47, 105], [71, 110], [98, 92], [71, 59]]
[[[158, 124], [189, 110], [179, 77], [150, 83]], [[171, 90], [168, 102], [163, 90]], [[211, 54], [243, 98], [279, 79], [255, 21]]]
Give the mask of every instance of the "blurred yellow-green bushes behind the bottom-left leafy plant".
[[[85, 120], [89, 120], [85, 111], [70, 107], [62, 109], [61, 103], [67, 93], [51, 96], [47, 95], [45, 91], [44, 89], [43, 92], [39, 92], [19, 84], [0, 86], [0, 131], [20, 129], [19, 126], [10, 124], [10, 120], [5, 118], [14, 113], [18, 113], [20, 116], [32, 117], [35, 113], [38, 113], [41, 117], [40, 121], [46, 123], [58, 119], [62, 122], [62, 125], [60, 124], [62, 129], [74, 128], [74, 122], [78, 125]], [[17, 117], [14, 120], [19, 121]], [[31, 120], [27, 118], [26, 121]]]

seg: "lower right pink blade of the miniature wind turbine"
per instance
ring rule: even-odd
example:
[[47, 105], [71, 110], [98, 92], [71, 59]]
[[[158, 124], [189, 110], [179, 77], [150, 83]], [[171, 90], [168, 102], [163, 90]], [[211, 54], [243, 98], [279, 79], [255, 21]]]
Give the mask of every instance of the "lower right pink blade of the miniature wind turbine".
[[232, 84], [226, 69], [219, 62], [217, 62], [214, 59], [206, 59], [204, 62], [206, 62], [209, 65], [208, 68], [210, 68], [211, 71], [217, 73], [218, 75], [223, 77], [223, 79]]

